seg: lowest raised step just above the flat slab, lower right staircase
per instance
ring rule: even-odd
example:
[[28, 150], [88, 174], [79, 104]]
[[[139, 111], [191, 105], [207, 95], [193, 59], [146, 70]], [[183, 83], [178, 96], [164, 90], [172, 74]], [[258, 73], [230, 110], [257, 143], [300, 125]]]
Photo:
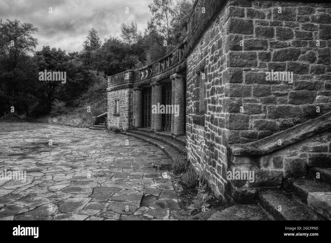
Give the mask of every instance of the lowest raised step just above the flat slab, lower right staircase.
[[289, 192], [260, 192], [259, 203], [275, 220], [327, 220]]

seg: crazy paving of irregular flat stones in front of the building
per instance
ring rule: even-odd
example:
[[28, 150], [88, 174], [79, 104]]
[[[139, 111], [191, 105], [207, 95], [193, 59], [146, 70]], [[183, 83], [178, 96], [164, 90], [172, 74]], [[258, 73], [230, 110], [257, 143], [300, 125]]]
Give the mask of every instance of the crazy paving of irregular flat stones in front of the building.
[[157, 167], [169, 164], [158, 148], [121, 134], [0, 131], [0, 171], [27, 173], [26, 182], [0, 180], [0, 220], [176, 219], [170, 175]]

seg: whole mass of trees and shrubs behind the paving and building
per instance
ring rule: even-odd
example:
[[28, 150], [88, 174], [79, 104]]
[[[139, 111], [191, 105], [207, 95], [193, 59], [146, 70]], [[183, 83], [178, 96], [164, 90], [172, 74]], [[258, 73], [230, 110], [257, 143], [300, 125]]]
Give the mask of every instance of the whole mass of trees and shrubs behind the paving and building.
[[[51, 122], [85, 124], [90, 114], [81, 112], [87, 106], [106, 109], [107, 76], [160, 59], [185, 38], [192, 2], [153, 0], [144, 33], [131, 21], [122, 23], [121, 39], [110, 36], [101, 41], [98, 31], [91, 28], [82, 40], [82, 50], [69, 54], [50, 46], [35, 51], [38, 40], [33, 34], [38, 28], [19, 20], [0, 20], [0, 117], [14, 106], [24, 117], [51, 114]], [[66, 83], [39, 80], [45, 69], [66, 72]], [[62, 117], [65, 113], [68, 119]], [[184, 171], [184, 164], [178, 162], [179, 171]]]

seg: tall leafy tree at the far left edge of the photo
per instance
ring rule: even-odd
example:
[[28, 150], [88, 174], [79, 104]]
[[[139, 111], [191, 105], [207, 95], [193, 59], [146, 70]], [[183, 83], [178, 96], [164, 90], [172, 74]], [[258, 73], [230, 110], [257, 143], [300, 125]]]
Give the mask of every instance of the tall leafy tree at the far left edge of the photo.
[[[19, 20], [0, 20], [0, 115], [10, 106], [16, 110], [26, 109], [30, 103], [29, 92], [33, 87], [34, 63], [31, 54], [38, 41], [32, 37], [38, 28], [30, 23], [21, 23]], [[32, 76], [31, 76], [32, 75]]]

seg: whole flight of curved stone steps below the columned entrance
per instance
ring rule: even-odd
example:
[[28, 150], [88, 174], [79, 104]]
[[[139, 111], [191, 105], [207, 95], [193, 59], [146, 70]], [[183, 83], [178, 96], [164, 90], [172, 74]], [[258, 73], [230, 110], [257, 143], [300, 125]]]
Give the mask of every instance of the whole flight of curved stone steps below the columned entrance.
[[137, 130], [128, 130], [121, 133], [143, 140], [160, 148], [171, 159], [171, 161], [176, 159], [186, 160], [185, 136], [175, 137], [169, 132], [152, 131], [147, 128], [138, 128]]

